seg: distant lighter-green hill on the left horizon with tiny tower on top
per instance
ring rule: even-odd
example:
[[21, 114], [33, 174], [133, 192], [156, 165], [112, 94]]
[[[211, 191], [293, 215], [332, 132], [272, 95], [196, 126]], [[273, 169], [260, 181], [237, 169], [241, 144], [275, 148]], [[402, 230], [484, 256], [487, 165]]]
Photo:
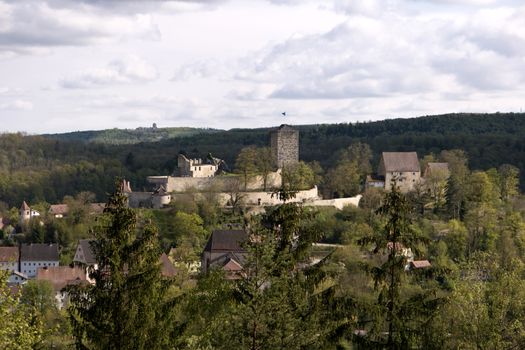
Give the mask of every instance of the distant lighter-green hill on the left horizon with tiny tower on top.
[[203, 128], [136, 128], [76, 131], [63, 134], [42, 135], [60, 141], [84, 141], [113, 145], [140, 142], [157, 142], [175, 137], [193, 136], [216, 132], [215, 129]]

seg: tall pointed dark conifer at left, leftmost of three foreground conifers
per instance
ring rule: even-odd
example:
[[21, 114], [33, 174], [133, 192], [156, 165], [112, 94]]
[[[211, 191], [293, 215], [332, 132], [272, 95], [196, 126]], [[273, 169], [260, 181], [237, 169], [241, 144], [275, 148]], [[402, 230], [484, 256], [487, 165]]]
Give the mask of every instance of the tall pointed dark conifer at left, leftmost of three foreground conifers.
[[127, 208], [116, 185], [92, 244], [98, 268], [94, 285], [70, 290], [70, 320], [77, 349], [163, 349], [167, 345], [170, 281], [160, 275], [156, 229]]

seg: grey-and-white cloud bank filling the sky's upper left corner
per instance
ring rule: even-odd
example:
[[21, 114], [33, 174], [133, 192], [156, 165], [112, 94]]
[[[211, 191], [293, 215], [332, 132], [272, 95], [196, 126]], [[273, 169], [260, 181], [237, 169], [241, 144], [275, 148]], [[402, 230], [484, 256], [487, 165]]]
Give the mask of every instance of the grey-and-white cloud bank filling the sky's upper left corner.
[[114, 14], [85, 5], [54, 7], [32, 0], [0, 2], [0, 51], [27, 53], [31, 48], [108, 44], [126, 38], [159, 40], [160, 31], [149, 14]]

